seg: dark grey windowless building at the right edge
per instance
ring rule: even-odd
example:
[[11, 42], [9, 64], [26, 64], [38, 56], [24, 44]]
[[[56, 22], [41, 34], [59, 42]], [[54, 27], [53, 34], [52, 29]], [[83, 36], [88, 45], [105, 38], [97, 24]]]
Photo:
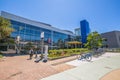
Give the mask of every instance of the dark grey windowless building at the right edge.
[[108, 48], [120, 48], [120, 31], [110, 31], [101, 34], [106, 39]]

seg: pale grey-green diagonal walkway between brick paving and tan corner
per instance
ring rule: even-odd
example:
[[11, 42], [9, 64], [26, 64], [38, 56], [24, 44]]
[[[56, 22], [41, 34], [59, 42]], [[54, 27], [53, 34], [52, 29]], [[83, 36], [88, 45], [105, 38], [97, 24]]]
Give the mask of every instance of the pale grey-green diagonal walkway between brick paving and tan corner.
[[[120, 55], [113, 57], [106, 56], [106, 58], [79, 65], [74, 69], [43, 78], [42, 80], [102, 80], [102, 77], [107, 73], [120, 69], [119, 61]], [[119, 76], [117, 78], [120, 80]]]

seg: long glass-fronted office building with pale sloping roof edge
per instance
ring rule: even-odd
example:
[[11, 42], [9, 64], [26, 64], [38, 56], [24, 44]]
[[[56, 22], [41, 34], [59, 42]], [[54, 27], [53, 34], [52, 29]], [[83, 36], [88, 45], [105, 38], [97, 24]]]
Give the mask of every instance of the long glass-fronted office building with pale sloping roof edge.
[[70, 31], [61, 30], [50, 24], [29, 20], [8, 12], [1, 11], [0, 16], [10, 20], [12, 27], [15, 29], [11, 37], [20, 36], [21, 41], [40, 42], [40, 34], [44, 32], [44, 41], [55, 45], [59, 39], [69, 41], [74, 36]]

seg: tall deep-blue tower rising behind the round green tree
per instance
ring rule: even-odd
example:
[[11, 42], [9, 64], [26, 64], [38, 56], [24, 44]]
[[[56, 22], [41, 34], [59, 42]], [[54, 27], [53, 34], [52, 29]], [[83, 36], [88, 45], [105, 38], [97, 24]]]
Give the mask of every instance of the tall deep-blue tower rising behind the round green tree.
[[82, 43], [87, 42], [87, 36], [90, 33], [90, 27], [87, 20], [80, 21]]

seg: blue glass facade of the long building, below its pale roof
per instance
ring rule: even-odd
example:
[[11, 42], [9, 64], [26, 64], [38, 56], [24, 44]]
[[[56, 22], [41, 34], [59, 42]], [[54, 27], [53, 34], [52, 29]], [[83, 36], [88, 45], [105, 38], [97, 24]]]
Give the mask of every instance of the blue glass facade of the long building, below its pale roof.
[[20, 36], [21, 41], [40, 41], [41, 32], [44, 32], [44, 41], [49, 44], [56, 44], [59, 39], [62, 39], [63, 41], [69, 41], [68, 38], [71, 36], [14, 20], [10, 21], [12, 27], [15, 29], [15, 31], [12, 32], [11, 37], [16, 38], [17, 36]]

